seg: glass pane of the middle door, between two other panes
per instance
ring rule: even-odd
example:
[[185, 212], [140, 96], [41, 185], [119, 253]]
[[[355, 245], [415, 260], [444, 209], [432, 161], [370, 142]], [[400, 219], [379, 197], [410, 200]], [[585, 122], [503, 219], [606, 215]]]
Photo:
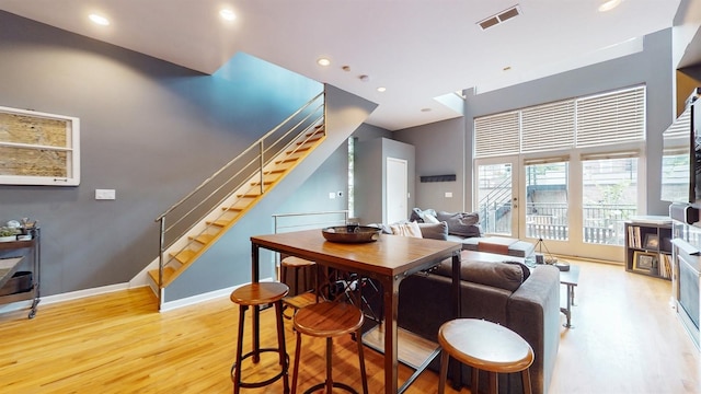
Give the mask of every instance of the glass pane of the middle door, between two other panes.
[[567, 162], [525, 165], [526, 236], [570, 239], [567, 171]]

